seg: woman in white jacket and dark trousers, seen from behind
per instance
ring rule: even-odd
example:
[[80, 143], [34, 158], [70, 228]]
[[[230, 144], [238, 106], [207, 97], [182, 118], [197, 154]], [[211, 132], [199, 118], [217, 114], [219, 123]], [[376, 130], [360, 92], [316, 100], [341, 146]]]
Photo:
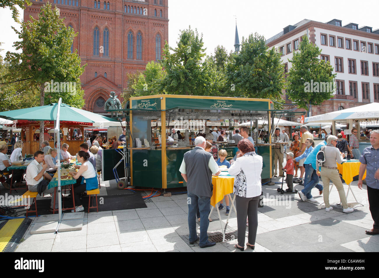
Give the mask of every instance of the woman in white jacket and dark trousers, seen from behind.
[[246, 217], [249, 221], [247, 246], [254, 249], [258, 227], [258, 203], [262, 193], [261, 173], [263, 158], [255, 153], [254, 145], [243, 139], [238, 142], [240, 153], [229, 168], [229, 175], [234, 175], [234, 194], [236, 194], [236, 210], [238, 225], [238, 244], [241, 251], [245, 246]]

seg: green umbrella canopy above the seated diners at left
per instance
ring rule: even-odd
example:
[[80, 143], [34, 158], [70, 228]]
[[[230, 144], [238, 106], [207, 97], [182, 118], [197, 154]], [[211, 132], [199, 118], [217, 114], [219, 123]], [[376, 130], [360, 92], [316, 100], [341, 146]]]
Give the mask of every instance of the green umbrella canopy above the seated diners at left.
[[[57, 103], [45, 106], [30, 107], [11, 111], [0, 112], [0, 116], [8, 120], [26, 120], [26, 121], [54, 121], [56, 120]], [[86, 110], [71, 107], [67, 104], [61, 104], [60, 121], [72, 121], [76, 123], [95, 123], [117, 122], [117, 120], [98, 115]]]

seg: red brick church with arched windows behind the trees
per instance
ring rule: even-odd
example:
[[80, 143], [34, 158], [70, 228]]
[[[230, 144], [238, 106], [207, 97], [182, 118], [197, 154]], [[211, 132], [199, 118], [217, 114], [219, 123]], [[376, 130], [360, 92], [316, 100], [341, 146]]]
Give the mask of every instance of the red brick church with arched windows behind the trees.
[[72, 51], [77, 49], [81, 64], [87, 64], [80, 76], [86, 110], [104, 113], [110, 92], [119, 96], [127, 87], [126, 73], [161, 59], [168, 0], [38, 0], [24, 10], [24, 20], [36, 18], [46, 2], [78, 32]]

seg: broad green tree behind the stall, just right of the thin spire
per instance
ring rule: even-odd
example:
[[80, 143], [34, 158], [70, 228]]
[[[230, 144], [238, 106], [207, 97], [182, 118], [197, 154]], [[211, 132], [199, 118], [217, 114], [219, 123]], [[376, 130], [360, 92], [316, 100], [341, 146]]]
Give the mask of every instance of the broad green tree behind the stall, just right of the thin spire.
[[265, 38], [255, 33], [242, 39], [239, 54], [233, 53], [227, 64], [227, 83], [234, 96], [269, 98], [282, 103], [284, 87], [280, 54], [268, 50]]

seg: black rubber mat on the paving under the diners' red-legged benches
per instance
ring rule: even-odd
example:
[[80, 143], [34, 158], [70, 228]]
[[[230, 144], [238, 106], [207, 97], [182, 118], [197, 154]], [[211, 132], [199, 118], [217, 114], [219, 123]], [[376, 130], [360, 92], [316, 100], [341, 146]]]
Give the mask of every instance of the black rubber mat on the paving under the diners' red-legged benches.
[[[95, 198], [96, 200], [96, 198]], [[81, 203], [83, 204], [84, 211], [88, 211], [88, 197], [82, 197]], [[62, 202], [63, 205], [63, 202]], [[75, 204], [76, 205], [76, 204]], [[92, 205], [92, 200], [91, 200]], [[140, 193], [132, 194], [118, 194], [111, 196], [97, 196], [97, 205], [99, 211], [108, 211], [108, 210], [130, 210], [133, 208], [147, 208], [146, 203], [142, 199]], [[66, 198], [64, 201], [64, 207], [72, 207], [72, 199]], [[49, 211], [50, 208], [50, 198], [45, 200], [37, 200], [37, 211], [38, 215], [52, 214]], [[34, 204], [33, 204], [34, 209]], [[96, 211], [96, 208], [91, 208], [90, 212]], [[67, 211], [69, 212], [69, 211]], [[30, 216], [36, 215], [35, 213], [28, 213]]]

